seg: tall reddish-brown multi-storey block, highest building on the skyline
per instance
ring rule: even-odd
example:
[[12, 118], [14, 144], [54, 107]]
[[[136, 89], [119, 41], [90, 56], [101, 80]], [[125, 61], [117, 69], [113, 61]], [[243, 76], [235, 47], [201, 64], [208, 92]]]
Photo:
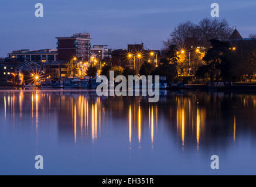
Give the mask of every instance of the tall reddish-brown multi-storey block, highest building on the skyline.
[[91, 38], [89, 33], [77, 33], [71, 37], [56, 37], [57, 61], [70, 61], [73, 57], [86, 61], [90, 58]]

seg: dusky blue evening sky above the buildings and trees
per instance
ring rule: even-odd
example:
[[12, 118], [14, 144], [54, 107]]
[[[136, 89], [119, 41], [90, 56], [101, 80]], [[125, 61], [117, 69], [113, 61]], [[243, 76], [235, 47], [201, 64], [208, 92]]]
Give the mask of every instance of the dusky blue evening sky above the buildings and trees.
[[[44, 17], [35, 17], [35, 4]], [[210, 5], [220, 5], [220, 18], [236, 26], [243, 37], [256, 33], [255, 0], [16, 0], [0, 2], [0, 57], [19, 49], [54, 49], [55, 37], [89, 32], [92, 44], [112, 49], [128, 43], [145, 43], [161, 49], [162, 41], [179, 22], [194, 23], [210, 17]]]

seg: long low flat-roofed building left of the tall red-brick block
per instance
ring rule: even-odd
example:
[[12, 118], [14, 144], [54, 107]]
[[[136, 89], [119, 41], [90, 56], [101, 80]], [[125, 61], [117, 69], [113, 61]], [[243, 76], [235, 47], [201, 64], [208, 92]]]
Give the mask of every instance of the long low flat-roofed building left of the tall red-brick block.
[[56, 49], [42, 49], [30, 51], [28, 49], [12, 51], [8, 54], [8, 58], [17, 62], [35, 61], [40, 63], [56, 61]]

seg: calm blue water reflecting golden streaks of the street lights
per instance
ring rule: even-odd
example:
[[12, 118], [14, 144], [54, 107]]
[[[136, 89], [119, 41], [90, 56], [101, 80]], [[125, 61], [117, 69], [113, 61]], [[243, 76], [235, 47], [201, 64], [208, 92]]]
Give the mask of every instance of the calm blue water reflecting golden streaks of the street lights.
[[1, 90], [0, 120], [2, 175], [256, 174], [254, 93]]

